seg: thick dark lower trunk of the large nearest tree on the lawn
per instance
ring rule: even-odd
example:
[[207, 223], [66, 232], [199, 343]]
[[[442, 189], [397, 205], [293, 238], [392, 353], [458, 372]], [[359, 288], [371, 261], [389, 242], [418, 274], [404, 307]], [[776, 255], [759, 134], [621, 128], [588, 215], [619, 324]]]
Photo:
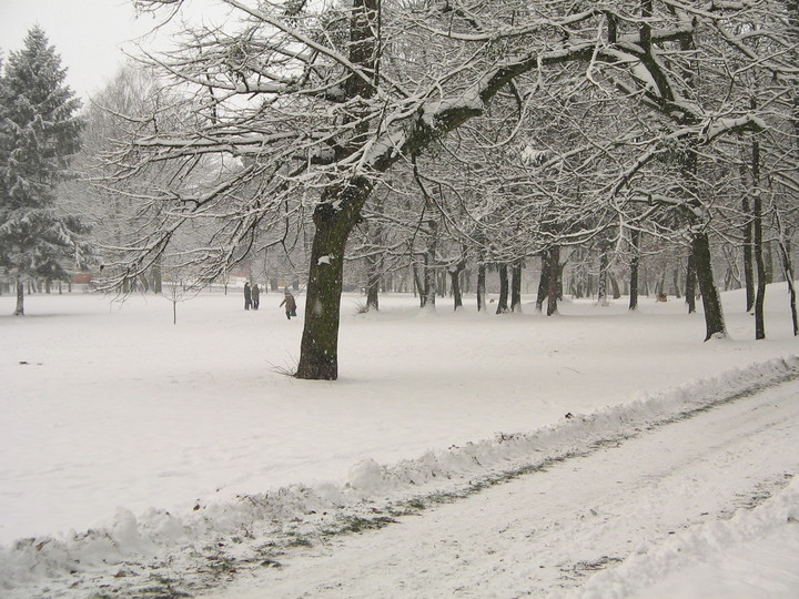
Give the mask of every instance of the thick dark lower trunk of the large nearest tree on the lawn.
[[[311, 248], [297, 378], [338, 378], [338, 312], [344, 248], [371, 191], [367, 180], [357, 179], [344, 190], [331, 191], [314, 211], [316, 232]], [[333, 202], [341, 207], [334, 209]]]

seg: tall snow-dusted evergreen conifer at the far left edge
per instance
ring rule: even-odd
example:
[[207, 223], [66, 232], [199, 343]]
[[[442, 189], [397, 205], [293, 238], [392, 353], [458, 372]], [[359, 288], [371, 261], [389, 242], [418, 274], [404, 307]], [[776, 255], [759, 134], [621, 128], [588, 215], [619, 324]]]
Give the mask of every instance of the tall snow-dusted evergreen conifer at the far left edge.
[[64, 280], [62, 263], [88, 251], [79, 219], [55, 203], [80, 146], [80, 101], [65, 75], [36, 27], [23, 49], [9, 53], [0, 77], [0, 272], [17, 282], [17, 315], [24, 314], [26, 278]]

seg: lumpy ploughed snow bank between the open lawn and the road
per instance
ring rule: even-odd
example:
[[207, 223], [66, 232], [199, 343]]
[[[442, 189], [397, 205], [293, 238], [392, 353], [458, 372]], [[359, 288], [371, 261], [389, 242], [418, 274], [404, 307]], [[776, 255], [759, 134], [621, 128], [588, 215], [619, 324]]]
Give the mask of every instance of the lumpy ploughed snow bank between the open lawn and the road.
[[[689, 417], [797, 376], [799, 357], [771, 359], [621, 406], [565, 415], [559, 424], [529, 434], [500, 434], [431, 450], [394, 465], [364, 460], [352, 467], [347, 481], [341, 485], [299, 484], [239, 496], [234, 501], [198, 504], [188, 517], [158, 509], [134, 515], [120, 508], [104, 526], [83, 534], [22, 539], [0, 548], [0, 588], [9, 597], [52, 597], [53, 588], [64, 589], [62, 596], [69, 596], [68, 588], [98, 586], [102, 580], [124, 576], [125, 568], [158, 571], [164, 564], [173, 576], [176, 570], [179, 577], [191, 577], [198, 570], [198, 559], [220, 552], [221, 548], [235, 556], [241, 567], [247, 561], [261, 564], [264, 556], [271, 555], [269, 548], [286, 550], [313, 544], [325, 535], [353, 529], [354, 522], [383, 525], [391, 516], [474, 493], [569, 456], [588, 454], [646, 427]], [[797, 493], [797, 485], [786, 491], [785, 509], [796, 506]], [[785, 521], [787, 516], [780, 517]], [[719, 536], [725, 534], [725, 527], [737, 525], [720, 522], [716, 528], [708, 526], [700, 535]], [[684, 542], [697, 546], [699, 539]], [[675, 567], [679, 559], [674, 558]], [[634, 558], [625, 567], [646, 568]], [[623, 588], [620, 592], [627, 591]]]

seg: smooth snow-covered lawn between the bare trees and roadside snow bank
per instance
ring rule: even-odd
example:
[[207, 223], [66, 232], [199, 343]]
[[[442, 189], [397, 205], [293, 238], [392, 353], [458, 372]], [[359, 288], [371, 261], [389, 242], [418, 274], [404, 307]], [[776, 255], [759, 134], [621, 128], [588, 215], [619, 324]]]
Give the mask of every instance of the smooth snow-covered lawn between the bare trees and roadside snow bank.
[[166, 512], [163, 538], [199, 512], [224, 518], [239, 496], [297, 484], [368, 494], [377, 465], [624, 409], [797, 349], [785, 285], [769, 287], [762, 342], [740, 292], [725, 294], [730, 338], [709, 343], [701, 315], [674, 298], [643, 298], [637, 313], [564, 302], [547, 318], [529, 303], [496, 316], [441, 298], [431, 314], [406, 295], [363, 315], [345, 295], [340, 380], [302, 382], [283, 372], [303, 297], [292, 321], [281, 300], [245, 312], [237, 293], [202, 294], [176, 305], [173, 325], [172, 303], [152, 295], [34, 295], [26, 317], [0, 297], [0, 583], [52, 573], [20, 558], [21, 538], [132, 526], [119, 551]]

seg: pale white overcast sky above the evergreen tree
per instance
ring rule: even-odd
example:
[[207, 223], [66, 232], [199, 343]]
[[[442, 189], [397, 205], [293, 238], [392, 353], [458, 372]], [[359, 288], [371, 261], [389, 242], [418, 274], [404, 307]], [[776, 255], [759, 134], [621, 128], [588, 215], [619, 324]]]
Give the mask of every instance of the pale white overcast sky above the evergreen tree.
[[[205, 17], [210, 0], [192, 0], [192, 17]], [[136, 39], [156, 23], [135, 18], [132, 0], [0, 0], [0, 50], [17, 51], [39, 24], [68, 68], [67, 83], [83, 100], [100, 91], [125, 62], [123, 49], [135, 53]], [[152, 35], [142, 45], [152, 43]]]

